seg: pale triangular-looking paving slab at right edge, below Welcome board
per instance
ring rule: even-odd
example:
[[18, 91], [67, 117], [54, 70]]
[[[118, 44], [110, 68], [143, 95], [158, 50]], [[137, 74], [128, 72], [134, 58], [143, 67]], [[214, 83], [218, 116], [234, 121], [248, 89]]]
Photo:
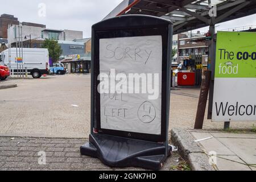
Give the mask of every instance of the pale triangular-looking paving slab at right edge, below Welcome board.
[[247, 164], [256, 164], [256, 139], [218, 138]]

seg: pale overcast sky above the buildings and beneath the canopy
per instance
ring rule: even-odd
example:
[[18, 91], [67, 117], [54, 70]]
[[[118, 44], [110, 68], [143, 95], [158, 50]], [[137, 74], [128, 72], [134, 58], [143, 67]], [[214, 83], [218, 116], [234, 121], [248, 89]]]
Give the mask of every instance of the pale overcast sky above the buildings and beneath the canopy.
[[[20, 22], [46, 24], [47, 28], [80, 30], [84, 32], [84, 38], [88, 38], [91, 36], [92, 24], [102, 20], [121, 2], [122, 0], [0, 0], [0, 14], [12, 14]], [[250, 25], [256, 26], [256, 15], [221, 23], [217, 30]], [[206, 32], [207, 28], [201, 31]]]

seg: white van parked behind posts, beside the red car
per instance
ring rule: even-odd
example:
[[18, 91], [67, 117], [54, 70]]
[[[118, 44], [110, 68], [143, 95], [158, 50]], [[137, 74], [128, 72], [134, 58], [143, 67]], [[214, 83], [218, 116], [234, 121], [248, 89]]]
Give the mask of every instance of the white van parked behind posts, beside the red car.
[[[21, 51], [21, 49], [20, 49]], [[1, 52], [0, 56], [3, 63], [9, 68], [11, 71], [14, 70], [14, 73], [17, 73], [17, 63], [15, 62], [16, 56], [16, 48], [11, 48], [11, 57], [9, 63], [9, 49]], [[22, 53], [20, 53], [21, 55]], [[18, 49], [18, 57], [19, 57], [19, 49]], [[22, 57], [22, 56], [20, 56]], [[19, 64], [18, 64], [19, 65]], [[23, 71], [25, 73], [25, 68], [27, 67], [27, 72], [32, 75], [33, 78], [40, 78], [44, 74], [49, 73], [49, 52], [48, 49], [43, 48], [23, 48]], [[21, 67], [22, 68], [22, 67]], [[19, 66], [18, 66], [19, 71]]]

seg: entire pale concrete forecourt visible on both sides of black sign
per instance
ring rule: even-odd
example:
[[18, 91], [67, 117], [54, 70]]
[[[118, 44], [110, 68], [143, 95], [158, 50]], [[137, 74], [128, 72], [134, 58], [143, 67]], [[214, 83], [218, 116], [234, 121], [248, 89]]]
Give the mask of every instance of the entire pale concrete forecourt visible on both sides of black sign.
[[[86, 138], [90, 128], [90, 76], [70, 74], [34, 80], [7, 80], [17, 88], [0, 90], [0, 135]], [[170, 130], [192, 129], [200, 88], [171, 91]], [[75, 107], [72, 105], [77, 105]], [[256, 122], [234, 122], [251, 129]], [[204, 129], [222, 129], [205, 115]]]

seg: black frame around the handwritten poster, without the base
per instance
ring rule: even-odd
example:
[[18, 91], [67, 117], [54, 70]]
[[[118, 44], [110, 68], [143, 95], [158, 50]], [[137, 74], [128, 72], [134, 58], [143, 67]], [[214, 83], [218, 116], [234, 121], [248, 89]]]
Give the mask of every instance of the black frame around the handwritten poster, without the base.
[[[130, 23], [127, 23], [130, 22]], [[169, 20], [146, 15], [124, 15], [104, 20], [92, 27], [92, 93], [91, 134], [113, 135], [150, 142], [167, 142], [170, 110], [172, 23]], [[100, 84], [100, 39], [134, 36], [162, 36], [162, 113], [161, 135], [101, 129], [101, 103], [97, 86]]]

